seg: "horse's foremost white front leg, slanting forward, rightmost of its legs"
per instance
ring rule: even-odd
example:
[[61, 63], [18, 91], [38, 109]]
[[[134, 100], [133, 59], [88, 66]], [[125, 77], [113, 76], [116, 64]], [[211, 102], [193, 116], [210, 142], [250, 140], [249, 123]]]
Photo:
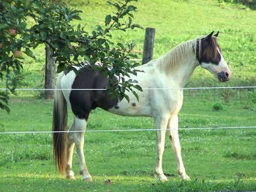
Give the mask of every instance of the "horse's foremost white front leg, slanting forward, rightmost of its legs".
[[183, 165], [183, 161], [181, 158], [181, 148], [180, 148], [180, 140], [178, 134], [178, 116], [173, 116], [168, 122], [168, 133], [169, 138], [172, 145], [172, 150], [174, 151], [174, 155], [176, 157], [176, 164], [177, 164], [177, 173], [182, 177], [183, 180], [189, 181], [190, 178], [187, 176], [185, 172], [185, 168]]

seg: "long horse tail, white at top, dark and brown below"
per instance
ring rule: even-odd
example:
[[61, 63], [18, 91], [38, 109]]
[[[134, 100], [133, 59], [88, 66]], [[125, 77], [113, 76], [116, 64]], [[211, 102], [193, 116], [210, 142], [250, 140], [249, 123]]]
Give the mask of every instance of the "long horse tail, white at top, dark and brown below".
[[53, 160], [59, 172], [65, 174], [67, 154], [67, 102], [62, 93], [60, 81], [64, 73], [60, 73], [53, 100], [52, 137], [53, 137]]

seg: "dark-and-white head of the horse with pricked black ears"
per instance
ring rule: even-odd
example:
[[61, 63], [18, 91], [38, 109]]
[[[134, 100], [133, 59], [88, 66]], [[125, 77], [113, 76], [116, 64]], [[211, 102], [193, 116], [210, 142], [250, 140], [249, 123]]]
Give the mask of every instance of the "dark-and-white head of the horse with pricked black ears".
[[219, 81], [226, 82], [229, 81], [232, 73], [221, 55], [217, 43], [218, 32], [215, 35], [213, 35], [213, 32], [208, 36], [197, 39], [196, 57], [202, 68], [209, 70]]

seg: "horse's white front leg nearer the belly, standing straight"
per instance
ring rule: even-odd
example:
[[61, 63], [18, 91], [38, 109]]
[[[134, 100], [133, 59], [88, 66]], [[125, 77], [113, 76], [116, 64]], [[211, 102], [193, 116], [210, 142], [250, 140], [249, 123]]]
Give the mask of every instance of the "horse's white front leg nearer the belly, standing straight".
[[167, 118], [159, 118], [155, 120], [156, 128], [160, 129], [156, 131], [156, 161], [155, 161], [155, 172], [154, 176], [159, 181], [167, 181], [167, 177], [163, 173], [162, 168], [162, 159], [164, 152], [164, 140], [166, 136], [166, 127], [167, 127], [168, 119]]

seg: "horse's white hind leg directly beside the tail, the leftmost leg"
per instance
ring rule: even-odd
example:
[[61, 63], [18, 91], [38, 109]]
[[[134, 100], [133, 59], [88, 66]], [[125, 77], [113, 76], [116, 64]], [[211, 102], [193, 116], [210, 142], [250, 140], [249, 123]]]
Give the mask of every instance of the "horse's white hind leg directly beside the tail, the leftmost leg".
[[[75, 123], [73, 121], [71, 127], [69, 128], [69, 131], [73, 131], [75, 128]], [[68, 132], [68, 146], [67, 146], [67, 163], [65, 168], [66, 177], [68, 179], [74, 179], [75, 173], [72, 170], [72, 158], [73, 158], [73, 151], [74, 151], [74, 136], [73, 132]]]

